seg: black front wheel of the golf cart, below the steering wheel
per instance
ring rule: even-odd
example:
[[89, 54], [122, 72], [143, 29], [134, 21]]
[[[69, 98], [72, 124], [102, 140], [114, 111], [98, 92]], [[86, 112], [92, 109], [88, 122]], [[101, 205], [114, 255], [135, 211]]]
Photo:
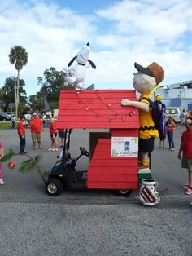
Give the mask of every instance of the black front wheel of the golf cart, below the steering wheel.
[[50, 178], [46, 182], [46, 192], [50, 196], [59, 196], [63, 191], [63, 183], [57, 178]]

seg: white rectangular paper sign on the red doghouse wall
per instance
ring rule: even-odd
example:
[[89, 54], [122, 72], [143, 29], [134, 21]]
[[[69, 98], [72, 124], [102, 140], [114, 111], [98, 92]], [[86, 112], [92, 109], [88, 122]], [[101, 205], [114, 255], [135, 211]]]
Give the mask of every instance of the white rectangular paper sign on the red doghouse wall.
[[137, 157], [138, 137], [112, 137], [111, 157]]

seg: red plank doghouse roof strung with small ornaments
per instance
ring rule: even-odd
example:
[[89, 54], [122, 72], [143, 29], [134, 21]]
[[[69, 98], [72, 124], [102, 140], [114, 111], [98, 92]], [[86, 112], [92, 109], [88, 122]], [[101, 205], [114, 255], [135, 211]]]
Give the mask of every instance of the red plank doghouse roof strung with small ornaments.
[[138, 111], [122, 107], [135, 90], [61, 90], [57, 128], [138, 128]]

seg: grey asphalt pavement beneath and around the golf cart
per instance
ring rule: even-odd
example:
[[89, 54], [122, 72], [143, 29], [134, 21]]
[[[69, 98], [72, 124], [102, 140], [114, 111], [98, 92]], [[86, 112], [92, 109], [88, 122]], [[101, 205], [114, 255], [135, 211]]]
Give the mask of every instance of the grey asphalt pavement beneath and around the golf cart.
[[[178, 149], [181, 137], [175, 133]], [[19, 151], [16, 130], [0, 130], [6, 151]], [[48, 152], [48, 129], [42, 135], [43, 149], [32, 150], [27, 130], [26, 150], [41, 155], [41, 167], [50, 170], [57, 152]], [[89, 130], [73, 130], [71, 153], [79, 147], [89, 151]], [[151, 173], [159, 183], [161, 201], [146, 207], [138, 191], [128, 197], [112, 191], [64, 191], [47, 196], [36, 170], [20, 174], [3, 164], [5, 185], [0, 187], [0, 256], [7, 255], [190, 255], [192, 244], [192, 196], [181, 184], [187, 181], [177, 149], [159, 149], [151, 157]], [[17, 166], [25, 157], [15, 157]], [[82, 157], [78, 169], [85, 170], [89, 159]]]

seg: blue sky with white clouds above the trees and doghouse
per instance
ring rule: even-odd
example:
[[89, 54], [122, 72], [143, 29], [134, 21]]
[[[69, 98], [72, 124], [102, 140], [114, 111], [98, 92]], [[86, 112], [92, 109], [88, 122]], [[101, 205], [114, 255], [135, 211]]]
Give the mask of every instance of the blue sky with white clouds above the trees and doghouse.
[[158, 62], [162, 86], [192, 79], [191, 0], [0, 0], [0, 87], [16, 76], [8, 60], [11, 47], [28, 51], [20, 72], [28, 95], [50, 67], [63, 70], [90, 42], [85, 87], [132, 89], [134, 62]]

